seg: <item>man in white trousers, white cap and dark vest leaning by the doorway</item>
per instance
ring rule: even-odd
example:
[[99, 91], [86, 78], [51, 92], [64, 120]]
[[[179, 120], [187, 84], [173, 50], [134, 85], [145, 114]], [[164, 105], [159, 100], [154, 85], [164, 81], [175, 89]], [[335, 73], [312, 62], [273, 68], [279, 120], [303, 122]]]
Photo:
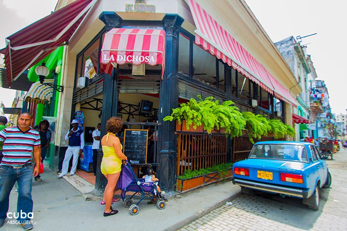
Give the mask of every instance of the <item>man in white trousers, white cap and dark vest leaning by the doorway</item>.
[[71, 122], [72, 129], [69, 130], [65, 135], [65, 140], [69, 141], [69, 145], [65, 152], [65, 157], [63, 161], [62, 173], [57, 177], [61, 178], [67, 174], [67, 170], [69, 168], [70, 159], [72, 159], [72, 168], [70, 171], [70, 175], [74, 175], [77, 168], [77, 161], [79, 155], [83, 152], [83, 148], [85, 147], [85, 135], [83, 130], [78, 127], [78, 121], [72, 120]]

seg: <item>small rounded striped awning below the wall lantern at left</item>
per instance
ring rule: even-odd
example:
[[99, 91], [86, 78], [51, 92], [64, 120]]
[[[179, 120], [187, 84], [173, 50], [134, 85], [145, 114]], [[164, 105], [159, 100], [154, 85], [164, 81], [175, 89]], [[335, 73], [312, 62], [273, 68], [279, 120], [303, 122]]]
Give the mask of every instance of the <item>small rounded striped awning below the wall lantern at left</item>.
[[[44, 83], [54, 84], [54, 80], [44, 80]], [[30, 103], [41, 103], [44, 104], [45, 101], [50, 101], [53, 96], [53, 88], [41, 84], [40, 82], [35, 82], [31, 85], [29, 91], [24, 97], [24, 101]]]

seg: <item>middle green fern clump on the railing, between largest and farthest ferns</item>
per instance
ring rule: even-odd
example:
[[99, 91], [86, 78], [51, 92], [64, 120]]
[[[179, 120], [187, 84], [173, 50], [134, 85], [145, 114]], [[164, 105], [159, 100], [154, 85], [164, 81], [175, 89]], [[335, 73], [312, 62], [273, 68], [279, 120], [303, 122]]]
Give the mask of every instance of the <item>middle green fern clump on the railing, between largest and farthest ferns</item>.
[[261, 139], [262, 136], [267, 136], [271, 129], [269, 120], [262, 115], [255, 115], [252, 112], [242, 112], [243, 118], [246, 120], [246, 130], [248, 131], [249, 140], [254, 144], [253, 139]]

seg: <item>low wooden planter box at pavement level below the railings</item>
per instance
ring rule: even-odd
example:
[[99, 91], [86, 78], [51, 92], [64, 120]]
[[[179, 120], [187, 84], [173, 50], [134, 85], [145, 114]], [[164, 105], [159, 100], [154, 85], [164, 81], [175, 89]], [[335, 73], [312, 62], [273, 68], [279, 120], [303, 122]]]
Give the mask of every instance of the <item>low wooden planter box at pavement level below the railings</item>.
[[200, 187], [204, 187], [206, 185], [219, 182], [224, 179], [228, 179], [232, 176], [233, 169], [227, 169], [227, 175], [221, 179], [219, 178], [219, 174], [217, 171], [211, 172], [205, 175], [195, 176], [189, 179], [177, 179], [176, 181], [176, 191], [180, 193], [188, 192], [193, 189], [198, 189]]

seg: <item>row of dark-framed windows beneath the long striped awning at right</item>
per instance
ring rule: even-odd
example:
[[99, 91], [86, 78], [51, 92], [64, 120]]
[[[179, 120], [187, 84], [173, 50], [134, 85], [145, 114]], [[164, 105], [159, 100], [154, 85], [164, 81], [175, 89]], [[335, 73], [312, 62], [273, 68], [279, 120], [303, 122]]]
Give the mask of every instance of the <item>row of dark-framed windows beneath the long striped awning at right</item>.
[[[225, 91], [224, 63], [197, 45], [195, 37], [183, 28], [179, 34], [178, 73]], [[262, 109], [280, 111], [280, 117], [283, 117], [282, 101], [233, 68], [231, 94], [234, 100], [248, 105], [252, 104], [252, 99], [256, 99]]]

